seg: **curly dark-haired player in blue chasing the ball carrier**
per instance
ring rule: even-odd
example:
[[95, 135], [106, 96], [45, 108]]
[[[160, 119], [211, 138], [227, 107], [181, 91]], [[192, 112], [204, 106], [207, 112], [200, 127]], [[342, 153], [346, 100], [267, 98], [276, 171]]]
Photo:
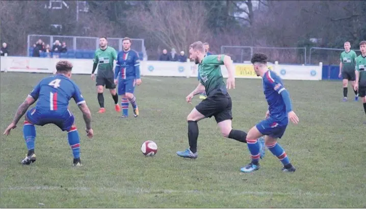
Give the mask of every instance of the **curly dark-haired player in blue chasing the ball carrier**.
[[281, 138], [285, 132], [289, 120], [297, 124], [299, 118], [292, 110], [289, 92], [284, 88], [281, 78], [272, 70], [268, 69], [267, 56], [256, 53], [251, 59], [254, 71], [257, 76], [263, 77], [263, 90], [268, 102], [266, 119], [260, 121], [252, 127], [247, 135], [247, 144], [251, 153], [252, 162], [241, 168], [242, 172], [252, 172], [259, 169], [259, 144], [257, 139], [265, 136], [267, 148], [283, 164], [282, 171], [295, 172], [295, 167], [290, 163], [286, 152], [277, 143], [277, 138]]

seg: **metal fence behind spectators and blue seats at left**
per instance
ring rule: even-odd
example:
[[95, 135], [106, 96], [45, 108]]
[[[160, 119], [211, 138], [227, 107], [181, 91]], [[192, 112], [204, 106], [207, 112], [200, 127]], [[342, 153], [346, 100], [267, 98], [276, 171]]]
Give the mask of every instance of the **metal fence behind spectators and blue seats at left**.
[[[38, 39], [41, 39], [45, 45], [49, 44], [52, 48], [56, 40], [61, 43], [66, 42], [69, 50], [96, 50], [99, 48], [99, 37], [82, 37], [82, 36], [49, 36], [49, 35], [28, 35], [27, 40], [27, 55], [29, 56], [29, 48], [35, 44]], [[108, 45], [118, 51], [122, 50], [122, 38], [108, 38]], [[132, 39], [131, 48], [146, 55], [144, 39]]]

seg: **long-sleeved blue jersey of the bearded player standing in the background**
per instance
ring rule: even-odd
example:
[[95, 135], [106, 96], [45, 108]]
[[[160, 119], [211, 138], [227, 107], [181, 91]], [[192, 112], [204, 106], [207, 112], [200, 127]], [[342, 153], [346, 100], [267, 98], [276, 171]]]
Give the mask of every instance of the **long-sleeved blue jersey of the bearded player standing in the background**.
[[136, 51], [130, 49], [118, 53], [114, 79], [117, 79], [118, 76], [122, 80], [127, 77], [140, 79], [140, 59]]

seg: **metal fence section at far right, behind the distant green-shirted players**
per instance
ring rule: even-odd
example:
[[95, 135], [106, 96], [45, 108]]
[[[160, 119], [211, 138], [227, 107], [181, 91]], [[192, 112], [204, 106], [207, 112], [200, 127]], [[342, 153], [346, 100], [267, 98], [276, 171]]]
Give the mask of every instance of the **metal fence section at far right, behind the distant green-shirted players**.
[[[309, 52], [309, 63], [317, 64], [323, 62], [323, 65], [339, 65], [339, 57], [344, 50], [344, 48], [311, 47]], [[356, 52], [357, 56], [361, 54], [358, 49], [352, 50]]]

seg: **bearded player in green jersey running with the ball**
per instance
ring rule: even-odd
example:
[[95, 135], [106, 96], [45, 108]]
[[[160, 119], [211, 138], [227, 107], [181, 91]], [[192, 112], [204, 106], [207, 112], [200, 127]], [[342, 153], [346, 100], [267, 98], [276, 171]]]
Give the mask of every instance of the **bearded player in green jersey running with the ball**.
[[[189, 149], [178, 151], [177, 155], [183, 158], [197, 158], [198, 124], [203, 118], [215, 117], [221, 133], [224, 137], [246, 143], [247, 134], [231, 127], [231, 97], [227, 89], [235, 88], [235, 79], [232, 69], [231, 58], [226, 55], [205, 56], [202, 42], [191, 44], [189, 49], [190, 59], [198, 64], [198, 72], [201, 75], [200, 84], [186, 97], [186, 101], [192, 103], [193, 96], [206, 91], [207, 98], [202, 100], [188, 115], [188, 140]], [[225, 86], [220, 65], [225, 65], [229, 77]], [[260, 139], [264, 148], [264, 139]], [[264, 156], [264, 149], [262, 156]], [[259, 152], [259, 149], [258, 149]], [[257, 154], [260, 157], [260, 154]]]

